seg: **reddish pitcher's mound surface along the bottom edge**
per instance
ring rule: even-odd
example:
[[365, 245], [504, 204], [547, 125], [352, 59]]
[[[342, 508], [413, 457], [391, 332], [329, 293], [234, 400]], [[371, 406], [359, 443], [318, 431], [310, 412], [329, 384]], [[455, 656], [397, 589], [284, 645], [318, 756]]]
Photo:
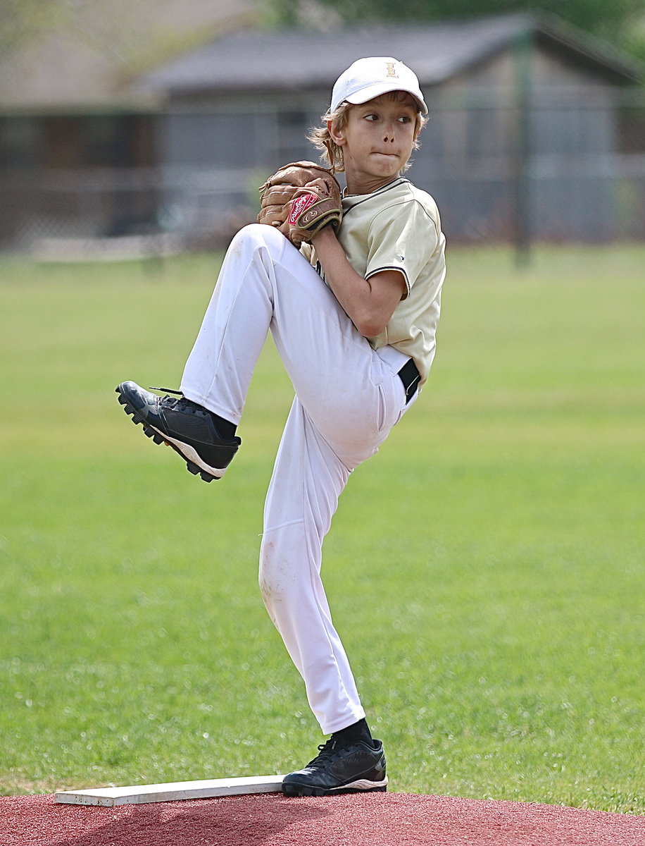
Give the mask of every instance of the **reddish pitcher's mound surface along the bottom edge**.
[[2, 846], [645, 846], [645, 816], [417, 794], [153, 805], [0, 797]]

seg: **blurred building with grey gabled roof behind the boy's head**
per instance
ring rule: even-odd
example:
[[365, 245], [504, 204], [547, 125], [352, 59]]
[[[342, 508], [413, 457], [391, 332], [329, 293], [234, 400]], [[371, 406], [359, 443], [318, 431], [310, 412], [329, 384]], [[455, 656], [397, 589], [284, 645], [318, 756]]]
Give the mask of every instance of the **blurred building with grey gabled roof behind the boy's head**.
[[[268, 173], [312, 157], [304, 135], [319, 123], [338, 74], [365, 55], [394, 56], [418, 74], [430, 121], [409, 175], [435, 196], [449, 238], [522, 245], [642, 237], [633, 213], [642, 147], [628, 155], [620, 134], [625, 92], [641, 70], [604, 42], [532, 14], [243, 28], [158, 63], [128, 85], [131, 102], [145, 103], [135, 112], [143, 124], [119, 130], [139, 151], [137, 166], [154, 173], [144, 213], [126, 202], [130, 177], [112, 217], [99, 223], [97, 212], [85, 225], [99, 223], [96, 234], [162, 225], [194, 240], [226, 240], [254, 217], [255, 189]], [[77, 168], [89, 173], [98, 151], [118, 148], [103, 131]]]

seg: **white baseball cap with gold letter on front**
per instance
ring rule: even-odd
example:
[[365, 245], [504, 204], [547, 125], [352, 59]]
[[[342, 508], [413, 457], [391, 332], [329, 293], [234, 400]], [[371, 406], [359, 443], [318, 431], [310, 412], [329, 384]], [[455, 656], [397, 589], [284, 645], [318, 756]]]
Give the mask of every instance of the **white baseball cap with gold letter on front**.
[[331, 92], [331, 111], [342, 102], [364, 103], [388, 91], [407, 91], [418, 102], [421, 113], [428, 114], [417, 74], [391, 56], [359, 58], [351, 64], [336, 80]]

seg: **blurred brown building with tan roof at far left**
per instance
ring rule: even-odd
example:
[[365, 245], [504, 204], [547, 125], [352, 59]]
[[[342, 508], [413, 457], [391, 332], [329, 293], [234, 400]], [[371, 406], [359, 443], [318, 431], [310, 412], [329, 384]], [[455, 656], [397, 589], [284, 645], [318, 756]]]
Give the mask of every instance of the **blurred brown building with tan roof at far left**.
[[159, 104], [133, 82], [256, 25], [259, 0], [32, 6], [0, 27], [0, 250], [155, 230]]

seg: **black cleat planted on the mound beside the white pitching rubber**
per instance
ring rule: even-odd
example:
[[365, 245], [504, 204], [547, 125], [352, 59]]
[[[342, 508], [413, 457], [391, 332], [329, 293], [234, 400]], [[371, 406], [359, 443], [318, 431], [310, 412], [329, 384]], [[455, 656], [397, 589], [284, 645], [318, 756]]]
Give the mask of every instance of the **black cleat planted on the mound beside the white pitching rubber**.
[[380, 740], [340, 744], [331, 737], [319, 746], [319, 755], [282, 780], [285, 796], [336, 796], [385, 792], [385, 753]]

